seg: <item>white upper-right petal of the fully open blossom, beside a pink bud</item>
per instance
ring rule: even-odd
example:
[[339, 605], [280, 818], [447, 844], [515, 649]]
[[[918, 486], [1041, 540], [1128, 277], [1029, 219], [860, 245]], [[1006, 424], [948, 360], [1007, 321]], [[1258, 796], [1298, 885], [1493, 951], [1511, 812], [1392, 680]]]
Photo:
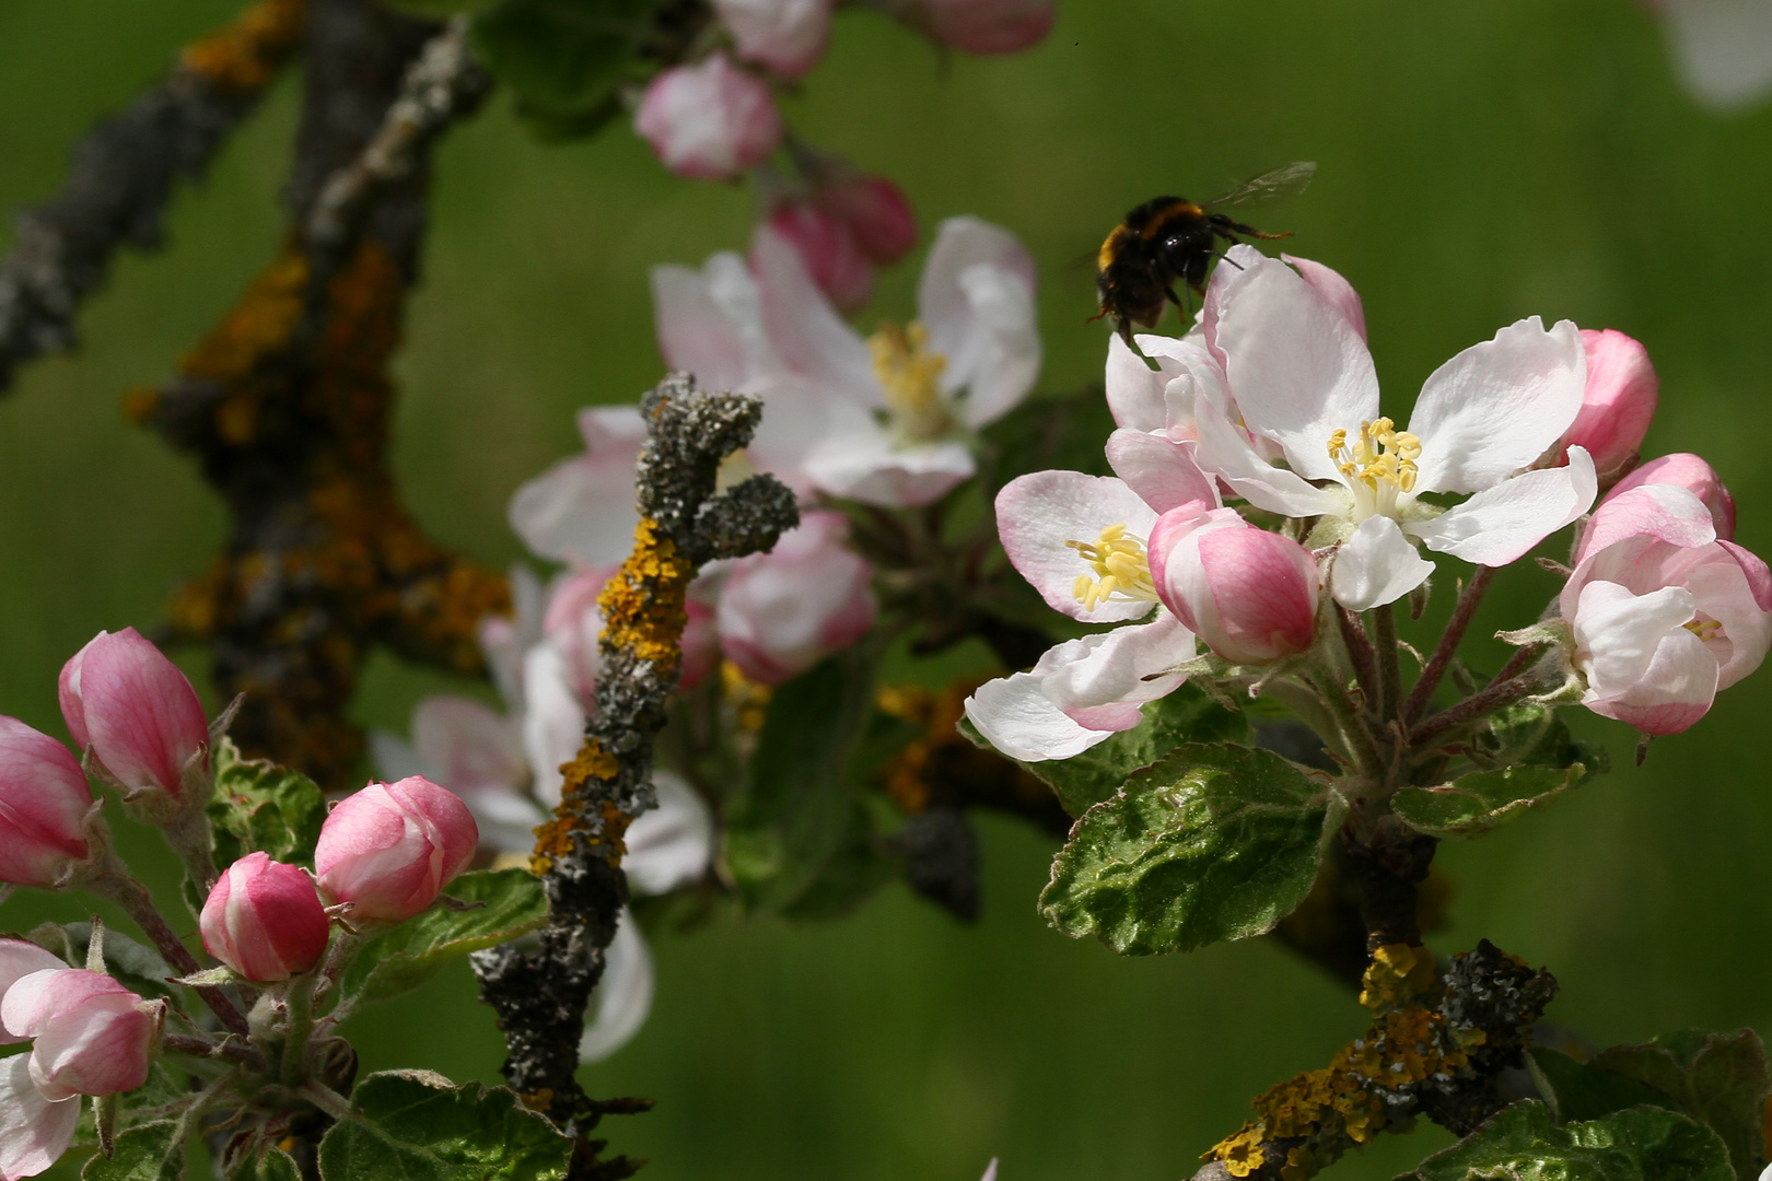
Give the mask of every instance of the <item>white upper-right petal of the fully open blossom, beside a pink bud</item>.
[[1568, 320], [1533, 315], [1441, 365], [1409, 430], [1421, 439], [1418, 487], [1476, 492], [1543, 455], [1581, 413], [1588, 351]]

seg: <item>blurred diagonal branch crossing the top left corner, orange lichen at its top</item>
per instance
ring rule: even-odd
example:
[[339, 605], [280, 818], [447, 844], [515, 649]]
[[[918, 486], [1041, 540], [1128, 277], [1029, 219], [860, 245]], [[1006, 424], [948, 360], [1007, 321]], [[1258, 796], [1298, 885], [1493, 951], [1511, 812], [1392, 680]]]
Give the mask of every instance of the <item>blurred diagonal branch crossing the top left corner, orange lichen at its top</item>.
[[181, 179], [204, 174], [301, 42], [307, 0], [259, 0], [193, 42], [159, 85], [74, 149], [62, 191], [18, 216], [0, 262], [0, 390], [19, 365], [71, 349], [80, 305], [119, 246], [152, 250]]

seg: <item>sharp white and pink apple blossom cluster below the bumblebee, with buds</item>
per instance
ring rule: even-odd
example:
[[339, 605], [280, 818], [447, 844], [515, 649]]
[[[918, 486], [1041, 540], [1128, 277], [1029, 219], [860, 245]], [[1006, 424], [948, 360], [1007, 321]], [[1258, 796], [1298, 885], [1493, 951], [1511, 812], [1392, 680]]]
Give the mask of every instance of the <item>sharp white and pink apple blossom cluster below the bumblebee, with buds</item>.
[[1733, 544], [1717, 475], [1696, 455], [1636, 466], [1657, 381], [1621, 333], [1512, 324], [1432, 374], [1400, 428], [1352, 287], [1239, 246], [1185, 336], [1138, 343], [1148, 365], [1109, 345], [1116, 478], [1044, 471], [998, 496], [1003, 545], [1047, 604], [1138, 621], [971, 698], [1006, 754], [1070, 758], [1194, 673], [1285, 676], [1341, 643], [1334, 611], [1421, 591], [1423, 549], [1496, 568], [1575, 522], [1559, 618], [1517, 634], [1561, 657], [1561, 689], [1527, 687], [1540, 699], [1678, 733], [1767, 653], [1772, 577]]

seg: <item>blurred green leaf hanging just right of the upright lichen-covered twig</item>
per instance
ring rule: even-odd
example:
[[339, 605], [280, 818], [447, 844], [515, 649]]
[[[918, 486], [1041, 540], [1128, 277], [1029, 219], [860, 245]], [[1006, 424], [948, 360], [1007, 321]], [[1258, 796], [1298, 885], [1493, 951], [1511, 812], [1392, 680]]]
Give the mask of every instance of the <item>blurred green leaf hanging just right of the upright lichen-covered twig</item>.
[[874, 758], [872, 714], [874, 664], [858, 650], [769, 698], [750, 776], [727, 806], [727, 871], [746, 907], [787, 910], [828, 873], [872, 876], [854, 873], [872, 843], [859, 767]]

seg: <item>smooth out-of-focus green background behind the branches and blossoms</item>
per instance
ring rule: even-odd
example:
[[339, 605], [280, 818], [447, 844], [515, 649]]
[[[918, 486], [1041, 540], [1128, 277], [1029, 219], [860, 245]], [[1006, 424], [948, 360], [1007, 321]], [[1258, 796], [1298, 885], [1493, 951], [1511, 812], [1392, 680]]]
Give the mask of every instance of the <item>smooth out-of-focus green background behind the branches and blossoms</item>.
[[[0, 205], [46, 197], [69, 145], [234, 0], [0, 4]], [[1290, 159], [1317, 184], [1260, 220], [1361, 290], [1391, 409], [1522, 315], [1620, 328], [1662, 374], [1648, 452], [1698, 450], [1772, 552], [1772, 104], [1731, 119], [1673, 83], [1630, 0], [1061, 0], [1049, 41], [948, 62], [872, 14], [790, 104], [815, 142], [904, 184], [929, 225], [973, 212], [1040, 260], [1045, 388], [1099, 377], [1090, 251], [1125, 207], [1205, 197]], [[149, 625], [218, 544], [188, 462], [131, 428], [124, 390], [165, 377], [273, 251], [294, 78], [179, 198], [170, 250], [120, 262], [87, 345], [0, 400], [0, 712], [62, 733], [60, 662]], [[399, 368], [397, 466], [420, 519], [487, 561], [519, 547], [512, 489], [574, 448], [571, 414], [656, 381], [647, 267], [741, 248], [742, 189], [668, 177], [626, 129], [535, 143], [494, 101], [441, 151], [427, 276]], [[914, 262], [863, 317], [904, 317]], [[1552, 593], [1506, 575], [1478, 632]], [[1439, 613], [1449, 598], [1442, 579]], [[1423, 634], [1426, 629], [1421, 629]], [[200, 669], [200, 653], [188, 653]], [[441, 678], [377, 664], [358, 703], [404, 728]], [[1552, 1015], [1607, 1043], [1772, 1023], [1767, 947], [1772, 675], [1630, 767], [1634, 735], [1581, 719], [1620, 768], [1543, 816], [1448, 846], [1444, 951], [1480, 937], [1554, 969]], [[962, 928], [893, 889], [828, 926], [657, 933], [652, 1022], [588, 1071], [654, 1114], [604, 1124], [652, 1177], [1005, 1181], [1187, 1176], [1251, 1094], [1322, 1064], [1363, 1016], [1267, 942], [1118, 960], [1040, 922], [1051, 845], [982, 823], [987, 903]], [[78, 905], [18, 898], [0, 928]], [[459, 969], [354, 1030], [367, 1068], [493, 1080], [500, 1039]], [[1331, 1176], [1389, 1177], [1448, 1142], [1387, 1139]]]

